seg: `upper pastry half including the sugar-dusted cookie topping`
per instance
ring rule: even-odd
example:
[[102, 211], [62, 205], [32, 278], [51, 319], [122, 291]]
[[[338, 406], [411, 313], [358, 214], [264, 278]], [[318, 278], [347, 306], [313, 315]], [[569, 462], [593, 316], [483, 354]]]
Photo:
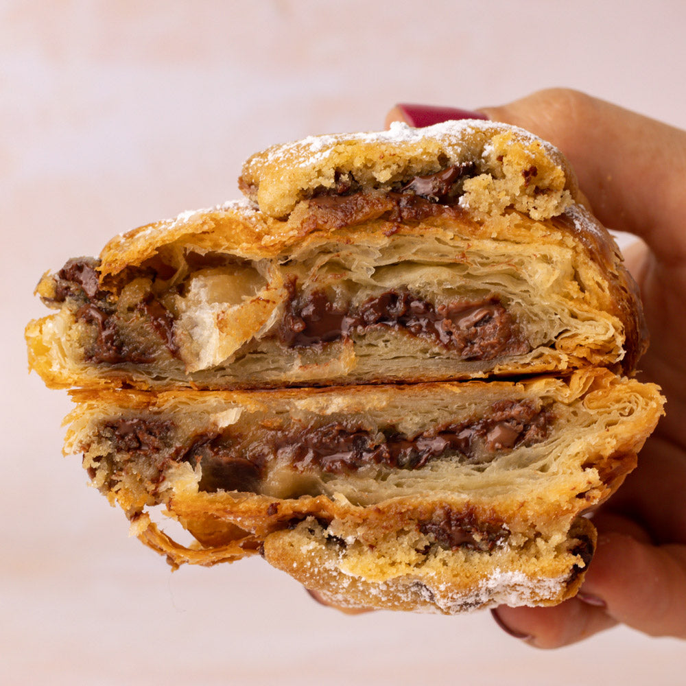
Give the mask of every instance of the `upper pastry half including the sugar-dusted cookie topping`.
[[50, 386], [276, 388], [584, 366], [646, 346], [613, 239], [562, 156], [483, 122], [316, 137], [246, 163], [258, 204], [70, 260], [27, 328]]

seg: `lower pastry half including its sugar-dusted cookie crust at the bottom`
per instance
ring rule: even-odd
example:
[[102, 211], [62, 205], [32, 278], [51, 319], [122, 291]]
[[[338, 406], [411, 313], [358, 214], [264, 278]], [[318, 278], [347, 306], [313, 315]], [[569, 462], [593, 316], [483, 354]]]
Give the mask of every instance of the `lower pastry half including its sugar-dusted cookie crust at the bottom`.
[[604, 369], [73, 399], [67, 452], [172, 566], [261, 553], [335, 604], [445, 613], [573, 594], [595, 541], [582, 514], [662, 411], [656, 387]]

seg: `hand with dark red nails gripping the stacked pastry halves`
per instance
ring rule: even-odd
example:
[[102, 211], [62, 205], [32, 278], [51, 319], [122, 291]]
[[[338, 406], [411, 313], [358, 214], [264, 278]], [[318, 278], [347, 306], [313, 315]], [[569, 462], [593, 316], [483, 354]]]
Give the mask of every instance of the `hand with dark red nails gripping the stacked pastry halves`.
[[[615, 624], [686, 638], [686, 132], [562, 89], [481, 112], [559, 147], [600, 221], [645, 241], [626, 252], [651, 338], [639, 379], [658, 383], [667, 397], [667, 416], [638, 468], [593, 517], [598, 549], [578, 596], [549, 608], [501, 606], [494, 616], [539, 648], [565, 646]], [[398, 106], [387, 124], [426, 126], [466, 116]]]

